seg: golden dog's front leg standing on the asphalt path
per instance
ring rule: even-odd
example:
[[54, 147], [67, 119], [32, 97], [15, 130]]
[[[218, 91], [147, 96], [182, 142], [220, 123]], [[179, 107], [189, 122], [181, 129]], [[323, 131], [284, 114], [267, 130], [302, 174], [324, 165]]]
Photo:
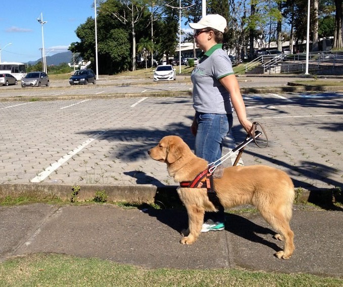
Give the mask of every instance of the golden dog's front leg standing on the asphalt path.
[[197, 205], [187, 206], [188, 213], [188, 236], [181, 239], [182, 244], [192, 244], [200, 235], [201, 228], [204, 222], [204, 208]]

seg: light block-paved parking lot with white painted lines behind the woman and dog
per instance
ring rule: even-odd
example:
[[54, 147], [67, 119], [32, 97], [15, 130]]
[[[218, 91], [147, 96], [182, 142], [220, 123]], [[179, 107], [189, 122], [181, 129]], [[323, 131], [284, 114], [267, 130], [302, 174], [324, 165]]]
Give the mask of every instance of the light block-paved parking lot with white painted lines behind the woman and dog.
[[[96, 95], [102, 91], [142, 96], [0, 102], [0, 181], [175, 185], [166, 167], [151, 160], [146, 151], [168, 134], [180, 135], [192, 147], [191, 97], [149, 97], [144, 92], [148, 89], [189, 90], [191, 84], [172, 81], [125, 87], [109, 83], [68, 87], [52, 82], [49, 88], [1, 87], [1, 97]], [[269, 137], [266, 149], [248, 146], [243, 164], [266, 164], [285, 170], [296, 187], [341, 186], [343, 93], [243, 97], [249, 118], [261, 122]], [[237, 120], [234, 123], [225, 151], [245, 137]]]

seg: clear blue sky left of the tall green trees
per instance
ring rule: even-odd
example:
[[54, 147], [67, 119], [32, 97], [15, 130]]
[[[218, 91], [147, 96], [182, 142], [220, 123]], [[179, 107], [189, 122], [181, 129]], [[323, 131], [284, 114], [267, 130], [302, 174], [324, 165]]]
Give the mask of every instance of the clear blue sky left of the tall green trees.
[[0, 9], [2, 62], [25, 63], [41, 57], [42, 30], [37, 21], [41, 13], [43, 21], [47, 21], [43, 25], [47, 56], [66, 52], [70, 43], [79, 41], [76, 28], [87, 17], [94, 18], [94, 0], [12, 0], [6, 3]]

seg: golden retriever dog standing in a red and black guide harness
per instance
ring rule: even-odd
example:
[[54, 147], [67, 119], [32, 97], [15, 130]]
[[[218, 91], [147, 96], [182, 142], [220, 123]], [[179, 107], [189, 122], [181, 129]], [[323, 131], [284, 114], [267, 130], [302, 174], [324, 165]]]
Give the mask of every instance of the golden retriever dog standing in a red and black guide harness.
[[[178, 136], [163, 137], [158, 145], [148, 151], [150, 157], [167, 164], [167, 170], [175, 182], [193, 181], [208, 168], [208, 162], [195, 156]], [[276, 239], [284, 241], [284, 249], [275, 253], [288, 259], [295, 246], [294, 234], [289, 227], [294, 186], [289, 176], [278, 169], [263, 166], [233, 166], [223, 170], [221, 178], [213, 179], [220, 203], [225, 208], [241, 204], [255, 205], [262, 217], [278, 232]], [[201, 233], [205, 211], [218, 211], [210, 201], [207, 188], [179, 187], [178, 194], [188, 214], [188, 229], [182, 244], [192, 244]]]

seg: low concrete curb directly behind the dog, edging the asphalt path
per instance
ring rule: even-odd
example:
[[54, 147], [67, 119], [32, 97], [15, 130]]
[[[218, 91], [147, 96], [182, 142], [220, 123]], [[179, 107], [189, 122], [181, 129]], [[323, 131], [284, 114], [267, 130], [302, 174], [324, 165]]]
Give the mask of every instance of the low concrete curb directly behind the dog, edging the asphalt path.
[[[8, 183], [0, 185], [0, 198], [7, 196], [17, 198], [29, 196], [37, 199], [60, 198], [70, 200], [72, 197], [74, 185], [70, 184], [21, 184]], [[177, 194], [177, 185], [170, 186], [152, 186], [152, 185], [102, 185], [87, 184], [77, 185], [79, 191], [75, 194], [77, 201], [87, 201], [94, 198], [98, 191], [105, 191], [108, 195], [108, 201], [128, 202], [128, 203], [162, 203], [164, 206], [181, 205]], [[320, 203], [330, 204], [335, 201], [342, 202], [343, 195], [335, 188], [307, 190], [304, 188], [295, 188], [297, 203]]]

